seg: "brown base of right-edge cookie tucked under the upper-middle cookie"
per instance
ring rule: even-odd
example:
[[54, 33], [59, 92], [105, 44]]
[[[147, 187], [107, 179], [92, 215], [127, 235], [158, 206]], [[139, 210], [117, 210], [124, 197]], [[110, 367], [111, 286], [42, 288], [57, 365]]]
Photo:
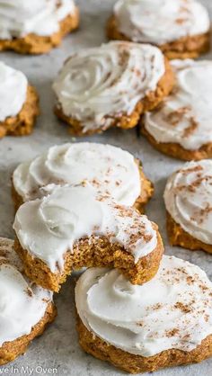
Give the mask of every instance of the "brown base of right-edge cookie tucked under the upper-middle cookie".
[[199, 161], [201, 159], [212, 158], [212, 142], [203, 145], [198, 150], [187, 150], [182, 148], [180, 144], [172, 142], [157, 142], [154, 137], [146, 130], [145, 126], [141, 126], [142, 133], [146, 136], [149, 143], [158, 151], [166, 156], [178, 158], [183, 161]]

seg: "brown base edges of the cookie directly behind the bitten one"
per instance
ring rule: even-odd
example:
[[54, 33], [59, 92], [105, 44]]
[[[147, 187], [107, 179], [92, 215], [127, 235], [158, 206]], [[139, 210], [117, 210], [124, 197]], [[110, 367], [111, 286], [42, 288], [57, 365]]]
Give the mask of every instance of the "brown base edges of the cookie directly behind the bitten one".
[[[143, 167], [141, 162], [137, 159], [137, 166], [139, 169], [140, 174], [140, 182], [141, 182], [141, 193], [140, 196], [137, 197], [137, 201], [134, 203], [134, 207], [140, 211], [140, 213], [145, 212], [145, 206], [146, 203], [151, 199], [154, 193], [154, 185], [150, 180], [146, 178], [146, 175], [143, 172]], [[14, 204], [14, 210], [15, 212], [18, 210], [18, 208], [23, 204], [22, 196], [18, 192], [15, 191], [14, 185], [13, 185], [13, 177], [12, 177], [12, 198], [13, 198], [13, 204]]]

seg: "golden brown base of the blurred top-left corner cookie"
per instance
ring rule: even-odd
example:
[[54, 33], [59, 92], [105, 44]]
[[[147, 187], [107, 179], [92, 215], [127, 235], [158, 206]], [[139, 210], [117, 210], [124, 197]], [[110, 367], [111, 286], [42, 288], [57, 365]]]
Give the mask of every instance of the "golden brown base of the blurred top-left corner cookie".
[[13, 38], [13, 40], [0, 40], [0, 51], [11, 49], [21, 54], [38, 55], [49, 52], [57, 47], [63, 37], [74, 31], [79, 24], [79, 11], [75, 8], [75, 14], [69, 14], [60, 22], [60, 30], [54, 34], [42, 37], [36, 34], [28, 34], [23, 38]]

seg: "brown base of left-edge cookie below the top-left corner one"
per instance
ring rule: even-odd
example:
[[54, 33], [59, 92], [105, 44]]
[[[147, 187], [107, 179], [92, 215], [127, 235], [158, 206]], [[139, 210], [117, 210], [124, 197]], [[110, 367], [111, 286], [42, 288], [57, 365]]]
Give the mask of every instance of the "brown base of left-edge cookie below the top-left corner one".
[[33, 86], [28, 85], [26, 102], [16, 116], [0, 122], [0, 139], [4, 136], [25, 136], [32, 132], [35, 119], [40, 113], [39, 96]]

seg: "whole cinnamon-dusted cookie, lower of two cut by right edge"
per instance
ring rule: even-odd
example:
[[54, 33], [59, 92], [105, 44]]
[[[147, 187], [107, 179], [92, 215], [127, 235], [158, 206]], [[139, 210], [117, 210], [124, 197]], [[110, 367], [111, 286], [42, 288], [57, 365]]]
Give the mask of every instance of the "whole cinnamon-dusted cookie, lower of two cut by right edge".
[[190, 162], [171, 175], [164, 191], [172, 246], [212, 253], [212, 161]]

